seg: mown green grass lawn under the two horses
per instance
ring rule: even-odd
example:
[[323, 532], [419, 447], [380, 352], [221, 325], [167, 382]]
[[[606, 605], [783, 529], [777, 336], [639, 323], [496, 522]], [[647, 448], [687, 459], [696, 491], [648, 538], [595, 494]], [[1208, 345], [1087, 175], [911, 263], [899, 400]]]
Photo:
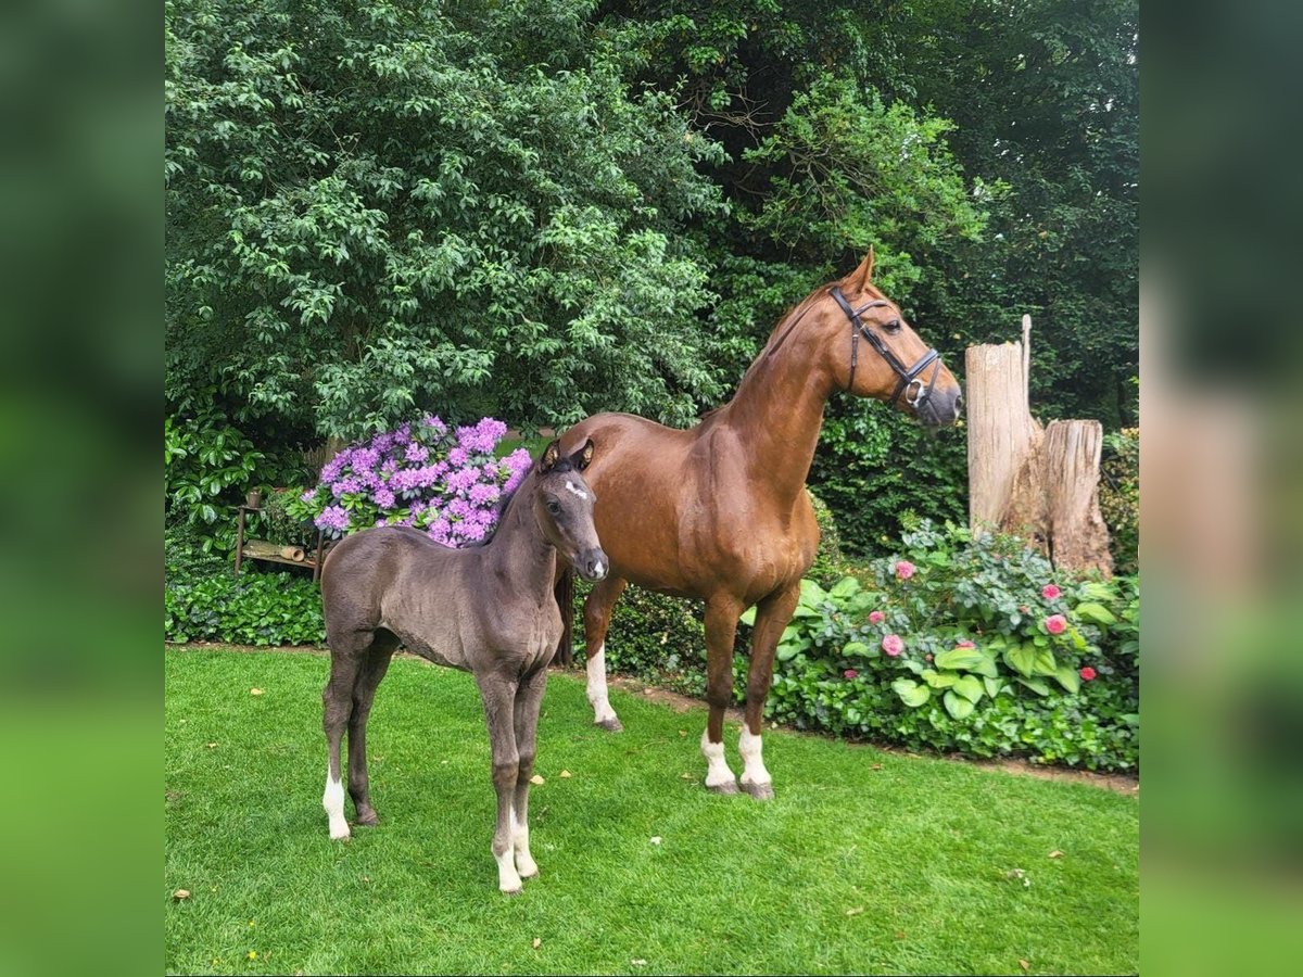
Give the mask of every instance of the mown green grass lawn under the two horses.
[[[718, 797], [704, 709], [612, 690], [627, 731], [605, 733], [579, 677], [554, 673], [530, 802], [542, 874], [508, 899], [469, 676], [395, 660], [369, 727], [382, 823], [339, 843], [321, 806], [328, 660], [164, 659], [172, 973], [1139, 969], [1135, 797], [783, 731], [765, 737], [777, 800]], [[737, 728], [724, 739], [740, 770]]]

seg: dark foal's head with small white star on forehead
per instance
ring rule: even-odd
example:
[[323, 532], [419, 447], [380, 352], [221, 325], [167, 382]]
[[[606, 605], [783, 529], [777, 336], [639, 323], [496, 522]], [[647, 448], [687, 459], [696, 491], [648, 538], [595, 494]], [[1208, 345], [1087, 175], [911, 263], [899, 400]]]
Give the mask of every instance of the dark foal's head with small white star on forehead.
[[534, 518], [547, 542], [581, 577], [601, 580], [611, 568], [611, 561], [602, 551], [593, 525], [595, 496], [584, 481], [584, 469], [592, 460], [592, 439], [569, 456], [562, 455], [560, 440], [543, 449], [536, 464], [538, 490], [534, 492]]

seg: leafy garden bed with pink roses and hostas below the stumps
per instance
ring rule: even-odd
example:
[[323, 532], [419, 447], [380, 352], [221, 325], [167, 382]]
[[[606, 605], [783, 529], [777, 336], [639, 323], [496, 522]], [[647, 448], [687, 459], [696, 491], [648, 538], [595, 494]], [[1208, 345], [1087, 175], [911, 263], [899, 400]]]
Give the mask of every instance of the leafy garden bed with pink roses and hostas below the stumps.
[[908, 559], [829, 590], [803, 581], [774, 719], [984, 757], [1136, 765], [1134, 578], [1070, 580], [1018, 539], [954, 526], [923, 524], [903, 542]]

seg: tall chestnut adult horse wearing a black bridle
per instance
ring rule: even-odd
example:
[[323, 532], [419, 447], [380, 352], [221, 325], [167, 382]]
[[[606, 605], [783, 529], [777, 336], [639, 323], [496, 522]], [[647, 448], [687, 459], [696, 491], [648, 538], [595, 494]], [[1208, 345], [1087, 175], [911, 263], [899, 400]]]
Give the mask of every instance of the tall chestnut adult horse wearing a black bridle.
[[[705, 601], [706, 787], [735, 793], [724, 759], [737, 617], [756, 607], [741, 788], [774, 796], [761, 759], [761, 720], [774, 650], [814, 560], [818, 526], [805, 494], [823, 405], [837, 391], [876, 397], [928, 426], [959, 417], [960, 389], [934, 349], [872, 283], [873, 251], [840, 281], [805, 297], [774, 328], [734, 399], [688, 431], [631, 414], [595, 414], [563, 438], [601, 446], [586, 477], [611, 559], [584, 603], [588, 698], [594, 722], [623, 728], [607, 701], [606, 630], [628, 582]], [[860, 340], [864, 340], [864, 356]]]

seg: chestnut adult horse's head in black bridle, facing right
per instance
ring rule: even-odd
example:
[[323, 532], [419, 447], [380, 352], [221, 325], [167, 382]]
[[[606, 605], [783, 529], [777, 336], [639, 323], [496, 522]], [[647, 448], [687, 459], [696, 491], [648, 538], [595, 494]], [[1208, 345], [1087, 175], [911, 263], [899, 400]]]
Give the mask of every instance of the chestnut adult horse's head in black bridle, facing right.
[[857, 397], [876, 397], [913, 414], [929, 427], [959, 418], [962, 389], [900, 314], [872, 283], [873, 249], [860, 267], [817, 293], [820, 348], [829, 375]]

